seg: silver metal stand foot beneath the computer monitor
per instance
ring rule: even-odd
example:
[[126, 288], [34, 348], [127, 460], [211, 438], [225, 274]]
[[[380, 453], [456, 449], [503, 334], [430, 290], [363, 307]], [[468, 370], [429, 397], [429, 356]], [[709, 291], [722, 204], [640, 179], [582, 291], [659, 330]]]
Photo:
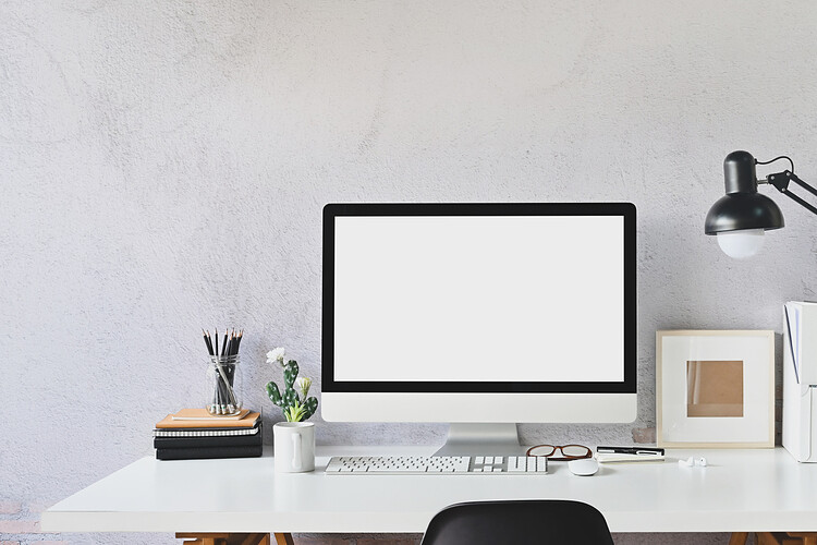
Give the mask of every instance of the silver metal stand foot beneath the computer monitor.
[[448, 439], [434, 456], [523, 456], [516, 424], [449, 424]]

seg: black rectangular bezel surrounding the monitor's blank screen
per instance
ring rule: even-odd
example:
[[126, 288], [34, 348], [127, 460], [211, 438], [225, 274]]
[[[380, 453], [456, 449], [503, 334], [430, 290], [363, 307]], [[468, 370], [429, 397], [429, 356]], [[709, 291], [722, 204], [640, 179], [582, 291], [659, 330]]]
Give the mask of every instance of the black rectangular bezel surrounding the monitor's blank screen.
[[[334, 379], [334, 218], [366, 216], [620, 216], [624, 219], [624, 379], [621, 382], [352, 382]], [[321, 390], [325, 392], [635, 393], [636, 258], [632, 203], [346, 203], [324, 207]]]

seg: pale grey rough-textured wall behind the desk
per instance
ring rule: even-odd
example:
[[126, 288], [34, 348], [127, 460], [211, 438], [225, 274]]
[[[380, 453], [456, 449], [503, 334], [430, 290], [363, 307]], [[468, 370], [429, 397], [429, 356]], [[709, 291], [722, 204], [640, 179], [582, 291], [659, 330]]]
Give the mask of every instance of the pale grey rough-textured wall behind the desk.
[[[649, 439], [656, 329], [780, 331], [815, 298], [793, 203], [753, 261], [702, 233], [733, 149], [817, 181], [815, 59], [806, 0], [2, 0], [0, 541], [123, 540], [37, 520], [202, 399], [200, 327], [245, 328], [269, 422], [268, 349], [318, 377], [327, 202], [634, 202], [638, 420], [522, 435]], [[316, 421], [324, 444], [443, 434]]]

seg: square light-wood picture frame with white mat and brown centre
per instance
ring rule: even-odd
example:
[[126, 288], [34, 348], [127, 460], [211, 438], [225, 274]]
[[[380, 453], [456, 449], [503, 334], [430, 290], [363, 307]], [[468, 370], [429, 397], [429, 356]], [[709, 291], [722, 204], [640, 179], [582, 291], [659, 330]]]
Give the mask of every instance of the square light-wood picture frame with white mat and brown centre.
[[656, 441], [775, 446], [775, 332], [656, 331]]

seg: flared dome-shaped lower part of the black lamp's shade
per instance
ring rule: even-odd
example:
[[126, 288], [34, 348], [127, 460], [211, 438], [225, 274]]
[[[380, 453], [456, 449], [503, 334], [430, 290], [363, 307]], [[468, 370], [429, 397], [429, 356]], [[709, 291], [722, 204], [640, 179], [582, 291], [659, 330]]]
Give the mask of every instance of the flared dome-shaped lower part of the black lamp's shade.
[[783, 213], [775, 201], [759, 193], [732, 193], [720, 197], [706, 215], [704, 232], [718, 234], [741, 229], [780, 229]]

